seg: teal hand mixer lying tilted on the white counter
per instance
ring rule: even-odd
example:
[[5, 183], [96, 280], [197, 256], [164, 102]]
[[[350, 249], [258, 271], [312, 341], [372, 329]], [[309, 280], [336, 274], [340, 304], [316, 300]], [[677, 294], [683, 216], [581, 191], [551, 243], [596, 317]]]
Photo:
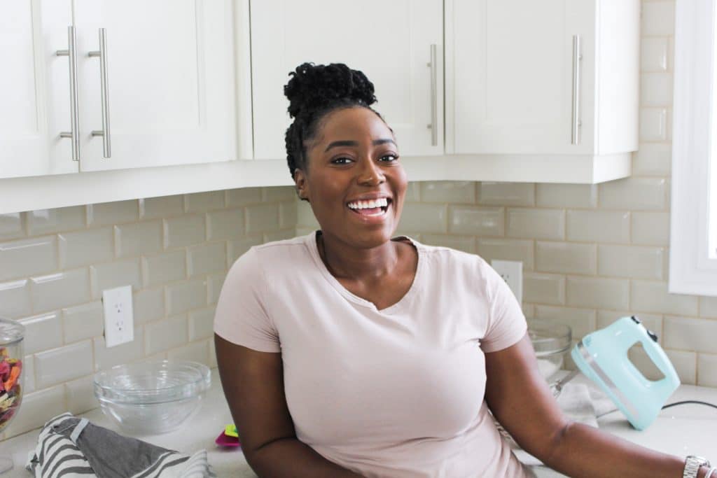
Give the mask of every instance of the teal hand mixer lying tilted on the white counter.
[[[664, 378], [648, 380], [627, 356], [640, 343]], [[622, 317], [608, 327], [589, 333], [571, 351], [579, 371], [553, 383], [558, 396], [566, 382], [582, 372], [596, 383], [617, 405], [630, 424], [644, 430], [657, 418], [680, 379], [670, 359], [657, 343], [657, 335], [647, 330], [637, 317]]]

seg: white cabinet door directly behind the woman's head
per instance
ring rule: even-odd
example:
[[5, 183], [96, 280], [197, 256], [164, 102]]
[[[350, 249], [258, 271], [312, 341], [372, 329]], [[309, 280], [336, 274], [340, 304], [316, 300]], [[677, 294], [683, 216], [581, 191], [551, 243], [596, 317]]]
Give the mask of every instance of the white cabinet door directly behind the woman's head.
[[[286, 157], [290, 118], [283, 85], [303, 62], [346, 63], [363, 71], [374, 82], [374, 107], [396, 132], [402, 155], [442, 154], [442, 18], [441, 0], [252, 1], [255, 158]], [[432, 45], [435, 72], [429, 66]]]

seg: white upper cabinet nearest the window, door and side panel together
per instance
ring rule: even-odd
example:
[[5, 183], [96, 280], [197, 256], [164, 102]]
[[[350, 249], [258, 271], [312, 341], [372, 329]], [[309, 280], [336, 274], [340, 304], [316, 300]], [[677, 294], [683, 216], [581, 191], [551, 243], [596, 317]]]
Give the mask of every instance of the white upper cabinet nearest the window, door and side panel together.
[[508, 181], [630, 173], [639, 0], [446, 0], [446, 33], [447, 153], [520, 163]]

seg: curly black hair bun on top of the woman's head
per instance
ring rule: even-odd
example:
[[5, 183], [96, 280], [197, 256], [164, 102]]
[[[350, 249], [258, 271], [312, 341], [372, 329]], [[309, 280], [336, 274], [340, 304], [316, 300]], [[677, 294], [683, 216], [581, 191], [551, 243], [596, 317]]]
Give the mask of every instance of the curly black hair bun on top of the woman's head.
[[374, 84], [363, 72], [351, 70], [343, 63], [303, 63], [289, 73], [284, 86], [289, 99], [289, 115], [323, 110], [332, 103], [351, 100], [369, 106], [376, 102]]

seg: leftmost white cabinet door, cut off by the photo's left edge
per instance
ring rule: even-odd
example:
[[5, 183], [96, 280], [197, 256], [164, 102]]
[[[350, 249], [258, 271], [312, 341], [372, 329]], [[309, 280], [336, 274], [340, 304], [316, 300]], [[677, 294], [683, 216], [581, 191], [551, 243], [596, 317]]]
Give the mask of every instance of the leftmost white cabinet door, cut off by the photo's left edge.
[[70, 131], [70, 1], [0, 3], [0, 178], [77, 172]]

